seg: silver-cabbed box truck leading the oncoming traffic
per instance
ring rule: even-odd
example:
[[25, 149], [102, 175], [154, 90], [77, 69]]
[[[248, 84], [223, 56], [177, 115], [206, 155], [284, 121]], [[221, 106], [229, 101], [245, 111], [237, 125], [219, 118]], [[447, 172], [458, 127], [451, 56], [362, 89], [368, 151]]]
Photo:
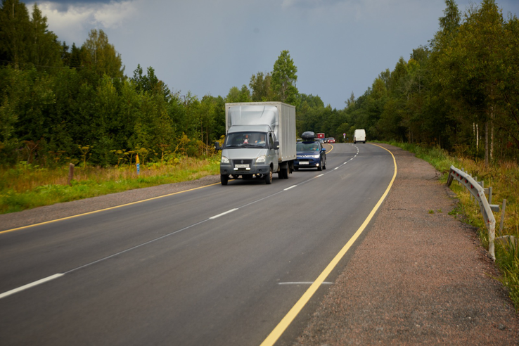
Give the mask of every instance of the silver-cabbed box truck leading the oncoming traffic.
[[272, 174], [288, 179], [294, 170], [295, 106], [282, 102], [246, 102], [225, 104], [224, 145], [220, 180], [264, 179], [272, 183]]

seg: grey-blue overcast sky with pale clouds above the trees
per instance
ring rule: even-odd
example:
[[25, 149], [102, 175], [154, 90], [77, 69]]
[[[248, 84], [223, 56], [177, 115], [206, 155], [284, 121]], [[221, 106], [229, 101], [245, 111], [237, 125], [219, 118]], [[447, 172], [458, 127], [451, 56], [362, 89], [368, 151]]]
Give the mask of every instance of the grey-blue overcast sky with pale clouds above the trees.
[[[467, 6], [481, 1], [457, 0]], [[518, 0], [497, 0], [505, 18]], [[27, 8], [32, 2], [27, 1]], [[380, 72], [409, 60], [439, 28], [444, 0], [38, 1], [49, 30], [82, 46], [91, 29], [108, 34], [129, 77], [149, 66], [170, 90], [225, 97], [281, 51], [297, 66], [300, 93], [345, 108]]]

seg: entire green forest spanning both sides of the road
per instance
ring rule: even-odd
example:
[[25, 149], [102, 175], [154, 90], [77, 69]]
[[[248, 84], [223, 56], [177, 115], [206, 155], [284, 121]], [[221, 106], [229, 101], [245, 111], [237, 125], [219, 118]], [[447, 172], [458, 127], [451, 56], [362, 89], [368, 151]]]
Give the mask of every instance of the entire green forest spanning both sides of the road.
[[[519, 162], [519, 21], [494, 0], [461, 13], [445, 0], [430, 41], [380, 72], [366, 92], [332, 109], [295, 87], [297, 67], [281, 51], [271, 72], [226, 96], [174, 94], [140, 65], [126, 75], [103, 30], [68, 46], [38, 6], [0, 8], [0, 165], [115, 166], [200, 158], [224, 136], [224, 103], [283, 101], [296, 106], [297, 135], [438, 146], [490, 162]], [[181, 86], [174, 86], [180, 88]], [[348, 92], [345, 91], [345, 95]]]

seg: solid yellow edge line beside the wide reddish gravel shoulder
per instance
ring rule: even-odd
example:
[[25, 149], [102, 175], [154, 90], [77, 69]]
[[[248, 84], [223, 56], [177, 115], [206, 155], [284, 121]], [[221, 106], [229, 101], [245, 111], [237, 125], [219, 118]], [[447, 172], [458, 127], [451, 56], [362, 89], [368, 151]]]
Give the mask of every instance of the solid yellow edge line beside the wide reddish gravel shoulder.
[[[378, 146], [378, 145], [373, 144], [373, 146]], [[383, 148], [382, 146], [379, 146], [379, 147]], [[383, 148], [383, 149], [387, 150], [386, 148]], [[353, 243], [355, 243], [355, 241], [357, 241], [357, 238], [359, 238], [359, 236], [364, 231], [364, 229], [366, 229], [366, 226], [368, 226], [369, 222], [371, 222], [371, 219], [373, 219], [373, 216], [377, 212], [380, 205], [382, 205], [385, 197], [387, 196], [387, 193], [389, 193], [391, 186], [393, 185], [393, 181], [395, 181], [395, 178], [397, 177], [397, 160], [395, 160], [395, 155], [393, 155], [393, 153], [391, 153], [390, 150], [387, 150], [387, 152], [389, 152], [393, 158], [393, 163], [395, 165], [395, 173], [393, 174], [393, 177], [391, 179], [389, 186], [387, 186], [387, 188], [385, 189], [384, 194], [382, 195], [382, 197], [380, 197], [380, 200], [378, 200], [375, 207], [373, 207], [373, 210], [371, 210], [371, 212], [369, 213], [366, 220], [364, 220], [364, 223], [361, 224], [359, 229], [357, 229], [357, 232], [355, 232], [355, 234], [352, 236], [352, 238], [350, 238], [350, 241], [348, 241], [346, 243], [346, 245], [344, 245], [344, 247], [338, 252], [338, 254], [335, 255], [335, 257], [332, 259], [332, 261], [328, 264], [328, 266], [326, 266], [326, 268], [322, 271], [322, 273], [316, 278], [314, 283], [312, 283], [312, 285], [308, 288], [308, 290], [305, 292], [305, 294], [303, 294], [300, 297], [300, 299], [295, 303], [295, 305], [292, 307], [292, 309], [290, 309], [288, 314], [286, 314], [285, 317], [283, 317], [283, 319], [281, 319], [281, 321], [278, 323], [276, 328], [274, 328], [274, 330], [271, 331], [269, 336], [267, 336], [267, 338], [265, 340], [263, 340], [261, 346], [274, 345], [274, 343], [276, 343], [278, 338], [281, 337], [281, 335], [283, 334], [284, 331], [286, 331], [286, 328], [288, 328], [288, 326], [290, 326], [290, 323], [292, 323], [292, 321], [295, 319], [297, 314], [299, 314], [301, 312], [302, 308], [305, 307], [307, 302], [309, 302], [310, 298], [312, 298], [314, 293], [316, 293], [317, 289], [319, 288], [319, 286], [321, 286], [321, 284], [324, 282], [326, 277], [328, 277], [328, 275], [330, 275], [331, 271], [333, 271], [335, 266], [337, 266], [340, 259], [342, 259], [342, 257], [344, 257], [344, 255], [346, 255], [347, 250], [350, 250]]]

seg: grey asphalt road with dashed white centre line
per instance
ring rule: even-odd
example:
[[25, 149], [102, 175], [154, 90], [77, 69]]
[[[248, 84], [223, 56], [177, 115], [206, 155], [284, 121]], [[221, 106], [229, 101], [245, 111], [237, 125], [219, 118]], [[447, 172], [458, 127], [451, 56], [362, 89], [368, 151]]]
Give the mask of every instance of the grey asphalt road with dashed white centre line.
[[[370, 144], [334, 144], [327, 168], [0, 233], [0, 344], [261, 344], [395, 172], [392, 155]], [[294, 340], [351, 254], [278, 345]]]

